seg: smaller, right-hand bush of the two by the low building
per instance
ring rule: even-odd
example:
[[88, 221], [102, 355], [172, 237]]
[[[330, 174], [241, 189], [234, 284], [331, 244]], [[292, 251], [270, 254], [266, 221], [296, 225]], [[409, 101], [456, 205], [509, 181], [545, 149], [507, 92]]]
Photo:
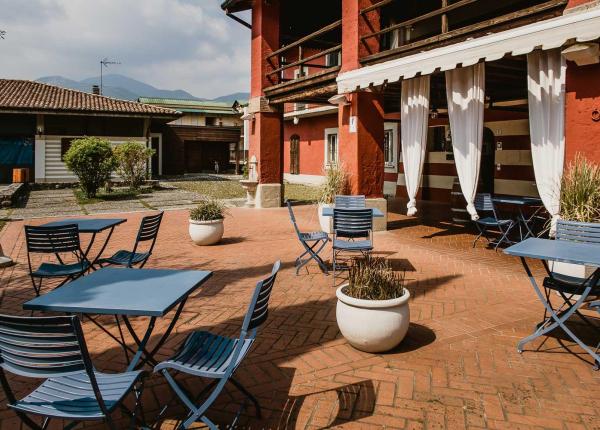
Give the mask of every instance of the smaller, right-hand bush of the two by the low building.
[[115, 147], [117, 174], [130, 189], [139, 189], [146, 180], [148, 160], [154, 152], [141, 142], [126, 142]]

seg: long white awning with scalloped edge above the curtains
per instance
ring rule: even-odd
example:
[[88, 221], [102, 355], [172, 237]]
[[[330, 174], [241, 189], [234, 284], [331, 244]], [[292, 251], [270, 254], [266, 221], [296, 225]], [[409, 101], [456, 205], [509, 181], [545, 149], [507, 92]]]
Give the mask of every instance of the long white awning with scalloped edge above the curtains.
[[337, 77], [338, 92], [350, 93], [480, 61], [496, 61], [506, 55], [523, 55], [535, 49], [559, 48], [570, 41], [598, 38], [600, 7], [341, 73]]

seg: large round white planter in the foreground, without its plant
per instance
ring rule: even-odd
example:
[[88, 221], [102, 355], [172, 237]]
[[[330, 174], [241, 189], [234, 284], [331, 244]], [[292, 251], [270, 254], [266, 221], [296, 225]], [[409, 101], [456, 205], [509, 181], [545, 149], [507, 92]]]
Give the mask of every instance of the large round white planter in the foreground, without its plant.
[[365, 352], [385, 352], [397, 346], [408, 331], [410, 293], [392, 300], [360, 300], [336, 291], [336, 319], [346, 340]]

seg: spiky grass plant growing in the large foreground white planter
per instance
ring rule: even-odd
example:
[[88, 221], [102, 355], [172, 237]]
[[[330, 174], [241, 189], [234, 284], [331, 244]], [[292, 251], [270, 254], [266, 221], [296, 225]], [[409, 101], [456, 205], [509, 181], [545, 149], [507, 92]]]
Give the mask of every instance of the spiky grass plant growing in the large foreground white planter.
[[366, 256], [350, 266], [344, 294], [362, 300], [391, 300], [404, 295], [404, 274], [394, 272], [384, 258]]

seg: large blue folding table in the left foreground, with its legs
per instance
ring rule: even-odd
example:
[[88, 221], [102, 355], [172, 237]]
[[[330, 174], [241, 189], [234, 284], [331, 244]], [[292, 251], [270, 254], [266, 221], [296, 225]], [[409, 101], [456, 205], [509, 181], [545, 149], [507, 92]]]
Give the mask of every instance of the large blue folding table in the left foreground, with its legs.
[[[127, 370], [145, 363], [157, 364], [156, 352], [165, 343], [175, 327], [190, 294], [204, 284], [212, 272], [198, 270], [121, 269], [105, 267], [61, 288], [36, 297], [23, 305], [31, 311], [83, 314], [113, 338], [123, 348], [129, 361]], [[157, 344], [148, 350], [156, 319], [164, 317], [177, 307], [175, 315]], [[115, 315], [120, 339], [110, 333], [92, 315]], [[118, 318], [122, 317], [127, 330], [137, 345], [132, 350], [125, 342]], [[140, 338], [131, 326], [131, 317], [149, 317], [146, 332]]]

